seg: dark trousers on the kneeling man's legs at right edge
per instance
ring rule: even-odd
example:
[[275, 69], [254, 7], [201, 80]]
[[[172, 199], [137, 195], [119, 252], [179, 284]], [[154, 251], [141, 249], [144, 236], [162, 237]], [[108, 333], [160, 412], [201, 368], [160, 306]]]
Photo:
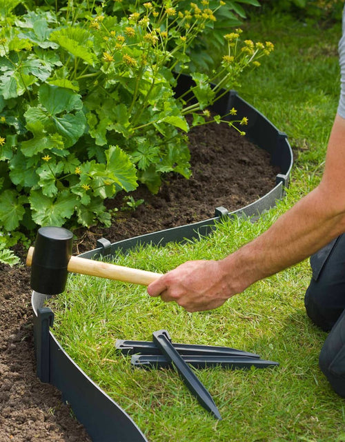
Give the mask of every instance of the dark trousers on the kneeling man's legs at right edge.
[[319, 366], [333, 390], [345, 397], [345, 234], [314, 254], [311, 268], [306, 312], [322, 330], [330, 331]]

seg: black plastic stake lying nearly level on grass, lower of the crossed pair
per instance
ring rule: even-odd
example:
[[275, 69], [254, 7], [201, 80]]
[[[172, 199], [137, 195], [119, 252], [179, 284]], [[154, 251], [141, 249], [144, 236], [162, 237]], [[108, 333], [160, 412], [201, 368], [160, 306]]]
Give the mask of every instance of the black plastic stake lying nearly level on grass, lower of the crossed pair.
[[[185, 363], [194, 368], [221, 367], [235, 370], [237, 368], [268, 368], [279, 365], [277, 362], [250, 356], [209, 356], [181, 354]], [[130, 363], [136, 368], [172, 368], [172, 363], [162, 354], [133, 354]]]

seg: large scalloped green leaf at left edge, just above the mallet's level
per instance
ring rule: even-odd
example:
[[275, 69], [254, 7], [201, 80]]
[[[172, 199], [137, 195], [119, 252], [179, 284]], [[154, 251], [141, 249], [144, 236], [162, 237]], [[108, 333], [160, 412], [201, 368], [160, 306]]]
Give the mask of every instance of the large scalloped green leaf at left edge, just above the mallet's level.
[[0, 219], [3, 228], [8, 232], [19, 227], [19, 222], [23, 219], [26, 197], [19, 196], [15, 190], [5, 190], [0, 195]]

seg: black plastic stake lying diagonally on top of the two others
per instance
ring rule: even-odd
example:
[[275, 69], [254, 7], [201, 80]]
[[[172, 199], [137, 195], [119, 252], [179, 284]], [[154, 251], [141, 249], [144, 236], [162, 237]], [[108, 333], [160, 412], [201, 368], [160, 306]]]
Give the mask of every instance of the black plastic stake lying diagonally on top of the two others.
[[211, 412], [215, 418], [221, 420], [221, 415], [215, 405], [215, 402], [212, 399], [212, 396], [206, 390], [204, 385], [199, 381], [195, 373], [190, 370], [186, 362], [181, 358], [179, 353], [175, 350], [174, 346], [171, 343], [170, 335], [167, 330], [159, 330], [158, 332], [153, 332], [152, 334], [153, 342], [161, 349], [161, 352], [166, 356], [166, 359], [173, 363], [176, 370], [181, 375], [184, 383], [188, 386], [190, 392], [192, 392], [196, 397], [199, 403], [206, 408], [209, 412]]

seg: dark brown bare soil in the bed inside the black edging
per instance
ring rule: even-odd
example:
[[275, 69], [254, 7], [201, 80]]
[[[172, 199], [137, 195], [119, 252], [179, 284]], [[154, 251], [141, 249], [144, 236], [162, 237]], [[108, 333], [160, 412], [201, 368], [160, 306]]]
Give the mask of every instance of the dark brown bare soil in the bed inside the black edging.
[[[95, 248], [100, 237], [115, 242], [211, 218], [219, 205], [230, 211], [242, 208], [275, 185], [278, 171], [268, 154], [227, 126], [193, 131], [190, 150], [190, 180], [170, 174], [155, 196], [139, 188], [132, 196], [145, 203], [135, 212], [119, 210], [110, 228], [75, 231], [75, 253]], [[109, 203], [112, 208], [121, 205], [120, 197]], [[17, 253], [24, 259], [25, 252]], [[0, 264], [0, 351], [0, 441], [88, 442], [60, 393], [36, 377], [29, 271], [24, 266]]]

